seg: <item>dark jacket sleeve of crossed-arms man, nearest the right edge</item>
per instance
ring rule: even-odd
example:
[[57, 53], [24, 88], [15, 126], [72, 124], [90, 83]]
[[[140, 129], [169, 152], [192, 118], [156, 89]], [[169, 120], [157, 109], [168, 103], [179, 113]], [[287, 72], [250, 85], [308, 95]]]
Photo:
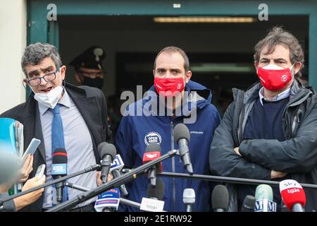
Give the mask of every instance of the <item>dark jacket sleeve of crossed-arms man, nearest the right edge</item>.
[[302, 122], [294, 138], [286, 141], [254, 139], [242, 141], [242, 156], [280, 172], [309, 172], [317, 162], [317, 107]]

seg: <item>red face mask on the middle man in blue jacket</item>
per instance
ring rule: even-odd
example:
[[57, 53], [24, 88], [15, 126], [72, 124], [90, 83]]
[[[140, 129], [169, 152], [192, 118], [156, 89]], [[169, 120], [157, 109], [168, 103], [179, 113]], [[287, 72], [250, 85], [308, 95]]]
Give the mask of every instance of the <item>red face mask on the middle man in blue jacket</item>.
[[175, 97], [185, 88], [184, 78], [154, 78], [154, 86], [159, 95]]

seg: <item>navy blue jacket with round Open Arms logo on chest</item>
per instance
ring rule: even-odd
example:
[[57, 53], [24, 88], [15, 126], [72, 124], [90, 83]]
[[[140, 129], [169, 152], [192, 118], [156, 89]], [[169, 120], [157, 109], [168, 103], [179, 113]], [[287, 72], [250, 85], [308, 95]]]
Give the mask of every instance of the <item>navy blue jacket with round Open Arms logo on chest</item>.
[[[155, 92], [154, 86], [150, 88]], [[198, 94], [197, 121], [193, 124], [186, 124], [190, 132], [189, 155], [192, 161], [194, 174], [210, 174], [209, 171], [209, 150], [213, 131], [220, 123], [220, 117], [216, 107], [211, 104], [211, 90], [206, 89], [203, 85], [189, 81], [185, 85], [185, 91], [196, 91]], [[156, 98], [159, 98], [156, 95]], [[144, 97], [142, 100], [132, 103], [130, 107], [140, 109], [144, 105], [151, 104], [151, 98]], [[183, 123], [183, 119], [192, 112], [193, 102], [187, 102], [188, 111], [182, 112], [178, 117], [170, 116], [125, 116], [120, 122], [116, 134], [116, 146], [123, 157], [125, 167], [136, 168], [142, 165], [142, 158], [151, 142], [157, 142], [161, 145], [161, 155], [166, 154], [169, 150], [178, 149], [178, 143], [174, 142], [174, 126]], [[186, 115], [186, 116], [185, 116]], [[163, 172], [180, 172], [187, 173], [180, 157], [175, 156], [162, 162]], [[196, 194], [194, 211], [211, 210], [211, 191], [214, 183], [201, 181], [197, 179], [181, 179], [161, 177], [165, 184], [163, 196], [164, 210], [186, 211], [185, 204], [182, 202], [182, 193], [184, 189], [192, 188]], [[128, 199], [141, 203], [143, 197], [147, 197], [147, 186], [149, 182], [147, 175], [139, 175], [130, 184], [126, 184], [129, 196]], [[138, 211], [131, 206], [120, 205], [123, 211]]]

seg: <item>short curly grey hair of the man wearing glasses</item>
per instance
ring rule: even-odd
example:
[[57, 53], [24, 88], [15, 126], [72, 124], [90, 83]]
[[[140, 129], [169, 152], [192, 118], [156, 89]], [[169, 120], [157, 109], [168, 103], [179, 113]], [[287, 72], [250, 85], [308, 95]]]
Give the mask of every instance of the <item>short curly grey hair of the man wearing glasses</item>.
[[58, 54], [57, 48], [48, 43], [37, 42], [35, 44], [29, 44], [24, 51], [21, 67], [25, 76], [27, 76], [27, 72], [25, 71], [25, 67], [28, 65], [37, 65], [39, 64], [45, 57], [51, 57], [54, 61], [56, 69], [62, 66], [61, 57]]

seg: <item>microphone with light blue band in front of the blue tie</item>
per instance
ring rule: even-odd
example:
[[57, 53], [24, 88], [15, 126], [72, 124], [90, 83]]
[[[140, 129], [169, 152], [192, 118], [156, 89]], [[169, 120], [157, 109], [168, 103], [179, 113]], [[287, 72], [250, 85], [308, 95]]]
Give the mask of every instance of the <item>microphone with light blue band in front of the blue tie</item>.
[[[67, 152], [65, 148], [56, 148], [52, 157], [51, 177], [59, 179], [67, 175]], [[64, 182], [56, 183], [56, 203], [63, 201]]]

